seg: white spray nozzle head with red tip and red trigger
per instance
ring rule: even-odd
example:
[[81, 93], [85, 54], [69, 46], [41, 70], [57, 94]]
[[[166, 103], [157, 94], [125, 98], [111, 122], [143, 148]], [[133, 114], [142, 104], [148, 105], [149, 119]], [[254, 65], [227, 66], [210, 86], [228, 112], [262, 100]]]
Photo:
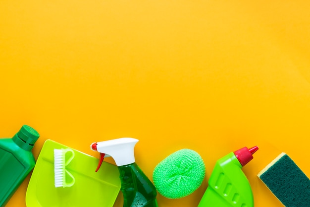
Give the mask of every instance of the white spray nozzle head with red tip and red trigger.
[[[117, 138], [91, 144], [91, 149], [101, 153], [101, 156], [111, 156], [117, 166], [128, 165], [135, 162], [134, 147], [138, 142], [135, 138]], [[106, 156], [105, 156], [106, 157]], [[103, 157], [100, 160], [99, 167]]]

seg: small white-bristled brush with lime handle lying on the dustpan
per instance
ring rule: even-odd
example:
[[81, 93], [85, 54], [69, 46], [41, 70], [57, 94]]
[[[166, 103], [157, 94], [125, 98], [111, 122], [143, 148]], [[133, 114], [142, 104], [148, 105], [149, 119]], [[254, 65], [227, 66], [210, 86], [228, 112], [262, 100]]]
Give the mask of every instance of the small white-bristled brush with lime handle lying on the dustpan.
[[[71, 152], [71, 155], [66, 160], [66, 153]], [[66, 170], [66, 166], [71, 162], [74, 157], [74, 151], [70, 148], [54, 149], [54, 175], [55, 187], [71, 187], [75, 183], [73, 175]], [[71, 181], [66, 181], [66, 175], [71, 177]]]

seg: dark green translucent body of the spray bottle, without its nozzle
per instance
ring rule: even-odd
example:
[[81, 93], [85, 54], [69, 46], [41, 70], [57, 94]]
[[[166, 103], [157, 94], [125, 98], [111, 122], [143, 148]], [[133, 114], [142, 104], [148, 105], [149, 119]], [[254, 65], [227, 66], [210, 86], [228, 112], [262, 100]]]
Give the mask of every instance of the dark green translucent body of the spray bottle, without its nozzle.
[[118, 167], [124, 207], [158, 207], [156, 189], [136, 163]]

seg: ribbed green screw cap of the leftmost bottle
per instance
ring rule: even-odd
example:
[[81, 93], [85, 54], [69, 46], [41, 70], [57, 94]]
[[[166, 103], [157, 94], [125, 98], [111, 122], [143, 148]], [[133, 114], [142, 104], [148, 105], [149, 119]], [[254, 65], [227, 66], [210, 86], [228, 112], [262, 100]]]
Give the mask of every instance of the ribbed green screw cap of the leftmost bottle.
[[34, 143], [40, 137], [39, 133], [33, 128], [23, 125], [13, 137], [13, 140], [23, 149], [31, 150]]

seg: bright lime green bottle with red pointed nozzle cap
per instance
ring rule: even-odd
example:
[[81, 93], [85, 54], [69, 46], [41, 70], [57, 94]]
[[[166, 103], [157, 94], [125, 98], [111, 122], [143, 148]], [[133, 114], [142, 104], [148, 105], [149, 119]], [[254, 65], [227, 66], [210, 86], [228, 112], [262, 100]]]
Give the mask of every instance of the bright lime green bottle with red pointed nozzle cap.
[[243, 147], [217, 160], [198, 207], [254, 207], [253, 193], [242, 167], [258, 147]]

